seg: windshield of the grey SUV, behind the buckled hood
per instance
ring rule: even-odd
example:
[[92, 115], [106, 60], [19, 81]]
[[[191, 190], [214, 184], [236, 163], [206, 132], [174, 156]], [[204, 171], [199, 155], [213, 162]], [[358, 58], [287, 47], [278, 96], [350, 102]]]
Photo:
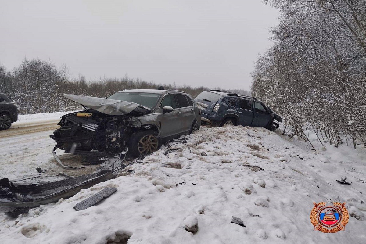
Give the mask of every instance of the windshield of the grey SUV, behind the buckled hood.
[[147, 108], [154, 108], [159, 97], [160, 94], [154, 93], [117, 92], [108, 98], [120, 101], [134, 102]]

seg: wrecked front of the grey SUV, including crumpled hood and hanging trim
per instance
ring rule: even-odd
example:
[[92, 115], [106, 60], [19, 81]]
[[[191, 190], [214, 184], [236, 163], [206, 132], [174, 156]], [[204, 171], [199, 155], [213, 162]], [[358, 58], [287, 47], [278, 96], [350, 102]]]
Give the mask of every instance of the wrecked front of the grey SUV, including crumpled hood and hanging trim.
[[61, 163], [56, 156], [56, 149], [71, 154], [86, 154], [91, 150], [111, 155], [119, 154], [126, 149], [130, 135], [141, 127], [137, 116], [150, 111], [141, 105], [126, 101], [78, 95], [63, 96], [86, 108], [62, 116], [58, 123], [60, 128], [50, 135], [56, 142], [53, 155], [64, 168], [72, 167]]

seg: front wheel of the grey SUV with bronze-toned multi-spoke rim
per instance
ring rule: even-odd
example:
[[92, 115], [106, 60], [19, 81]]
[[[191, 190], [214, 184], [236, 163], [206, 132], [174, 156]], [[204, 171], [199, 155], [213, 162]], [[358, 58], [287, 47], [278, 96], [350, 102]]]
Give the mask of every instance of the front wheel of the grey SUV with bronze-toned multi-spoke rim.
[[142, 130], [131, 135], [128, 143], [128, 154], [136, 158], [140, 155], [146, 156], [157, 151], [159, 147], [160, 139], [156, 131]]

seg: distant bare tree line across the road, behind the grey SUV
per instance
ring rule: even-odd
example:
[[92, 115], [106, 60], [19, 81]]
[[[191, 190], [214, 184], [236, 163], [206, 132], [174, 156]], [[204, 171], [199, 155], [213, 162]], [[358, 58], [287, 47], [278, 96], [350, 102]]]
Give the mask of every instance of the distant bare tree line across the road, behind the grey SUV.
[[[18, 113], [34, 114], [45, 112], [64, 112], [81, 109], [81, 106], [66, 98], [62, 94], [78, 94], [92, 97], [108, 97], [116, 91], [128, 88], [182, 90], [193, 98], [207, 87], [176, 86], [173, 84], [156, 84], [140, 79], [100, 78], [86, 81], [85, 76], [70, 78], [70, 70], [66, 64], [57, 68], [51, 61], [40, 59], [27, 60], [13, 70], [7, 70], [0, 65], [0, 93], [6, 94], [18, 106]], [[215, 89], [215, 88], [213, 88]], [[216, 88], [217, 89], [217, 88]], [[218, 87], [218, 89], [220, 89]], [[246, 93], [243, 90], [236, 90]]]

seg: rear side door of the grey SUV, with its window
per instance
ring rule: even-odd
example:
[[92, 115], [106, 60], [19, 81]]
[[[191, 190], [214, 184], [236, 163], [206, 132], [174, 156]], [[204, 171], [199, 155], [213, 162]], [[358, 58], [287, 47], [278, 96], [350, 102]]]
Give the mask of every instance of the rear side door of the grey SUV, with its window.
[[179, 116], [182, 121], [182, 128], [180, 128], [179, 133], [187, 132], [191, 129], [195, 118], [193, 102], [189, 102], [188, 99], [190, 100], [190, 98], [183, 94], [175, 94], [175, 97], [178, 101]]

